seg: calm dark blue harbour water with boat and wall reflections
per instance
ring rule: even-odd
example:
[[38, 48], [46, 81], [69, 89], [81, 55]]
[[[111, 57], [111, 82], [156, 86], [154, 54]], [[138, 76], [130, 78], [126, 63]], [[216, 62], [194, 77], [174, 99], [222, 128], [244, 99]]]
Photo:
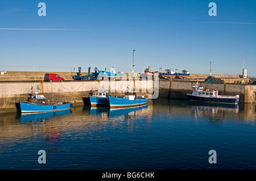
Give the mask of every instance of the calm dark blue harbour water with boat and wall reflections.
[[255, 107], [155, 99], [1, 114], [0, 169], [256, 169]]

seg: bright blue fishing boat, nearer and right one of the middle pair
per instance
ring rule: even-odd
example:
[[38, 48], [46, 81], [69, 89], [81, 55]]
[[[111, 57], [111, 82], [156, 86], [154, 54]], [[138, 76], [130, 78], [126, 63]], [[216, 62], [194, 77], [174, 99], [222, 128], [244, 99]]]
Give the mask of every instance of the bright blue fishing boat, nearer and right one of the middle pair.
[[[129, 89], [129, 87], [127, 87]], [[130, 106], [139, 106], [146, 104], [148, 99], [137, 97], [136, 91], [126, 91], [124, 96], [113, 97], [109, 95], [109, 106], [111, 107], [130, 107]]]

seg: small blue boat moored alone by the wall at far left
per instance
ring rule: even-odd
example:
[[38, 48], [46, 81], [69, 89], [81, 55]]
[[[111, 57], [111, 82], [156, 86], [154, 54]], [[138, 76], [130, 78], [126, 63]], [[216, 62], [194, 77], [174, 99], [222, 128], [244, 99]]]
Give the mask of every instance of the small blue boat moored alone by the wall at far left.
[[27, 102], [19, 102], [19, 109], [21, 112], [48, 112], [48, 111], [60, 111], [68, 110], [72, 107], [71, 102], [56, 102], [48, 103], [44, 95], [39, 95], [35, 92], [34, 96], [30, 96]]

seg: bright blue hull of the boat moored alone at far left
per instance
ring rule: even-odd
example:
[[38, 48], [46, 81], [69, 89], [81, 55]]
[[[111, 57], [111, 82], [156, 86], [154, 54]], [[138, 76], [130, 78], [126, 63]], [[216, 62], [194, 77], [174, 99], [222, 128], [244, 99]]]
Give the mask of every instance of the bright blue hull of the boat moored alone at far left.
[[20, 102], [21, 112], [49, 112], [49, 111], [61, 111], [68, 110], [72, 107], [72, 103], [63, 104], [35, 104]]

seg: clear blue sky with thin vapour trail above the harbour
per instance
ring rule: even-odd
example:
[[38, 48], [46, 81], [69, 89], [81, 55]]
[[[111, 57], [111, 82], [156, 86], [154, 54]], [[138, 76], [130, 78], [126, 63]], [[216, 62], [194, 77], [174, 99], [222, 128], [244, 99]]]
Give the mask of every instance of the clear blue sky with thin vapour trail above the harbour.
[[133, 49], [139, 73], [150, 65], [208, 74], [212, 61], [212, 74], [242, 74], [244, 61], [256, 76], [256, 2], [0, 2], [0, 70], [131, 72]]

